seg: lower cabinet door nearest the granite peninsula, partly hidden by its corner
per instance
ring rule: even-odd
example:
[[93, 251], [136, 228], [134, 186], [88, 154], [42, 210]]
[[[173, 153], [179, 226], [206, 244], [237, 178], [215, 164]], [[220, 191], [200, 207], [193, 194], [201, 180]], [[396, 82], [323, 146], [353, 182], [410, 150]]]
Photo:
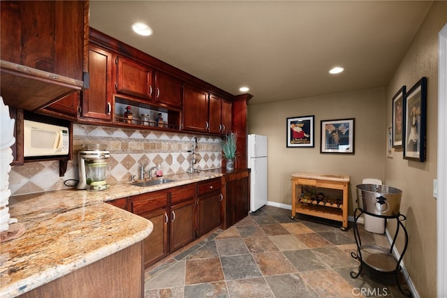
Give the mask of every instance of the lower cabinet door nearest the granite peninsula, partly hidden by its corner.
[[152, 221], [154, 230], [145, 239], [145, 268], [153, 265], [169, 254], [168, 247], [168, 210], [159, 209], [141, 216]]

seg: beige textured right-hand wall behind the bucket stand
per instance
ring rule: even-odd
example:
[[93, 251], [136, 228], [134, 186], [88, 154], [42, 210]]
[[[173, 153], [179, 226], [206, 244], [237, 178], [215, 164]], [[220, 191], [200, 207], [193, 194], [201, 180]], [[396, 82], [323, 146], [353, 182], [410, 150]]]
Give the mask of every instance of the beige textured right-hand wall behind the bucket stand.
[[[432, 192], [437, 177], [438, 33], [446, 22], [447, 2], [435, 1], [385, 92], [386, 123], [391, 124], [393, 95], [402, 85], [409, 90], [427, 77], [427, 161], [404, 160], [402, 149], [385, 159], [386, 183], [404, 192], [400, 211], [409, 232], [404, 264], [421, 297], [437, 297], [437, 202]], [[402, 246], [401, 237], [397, 247]]]

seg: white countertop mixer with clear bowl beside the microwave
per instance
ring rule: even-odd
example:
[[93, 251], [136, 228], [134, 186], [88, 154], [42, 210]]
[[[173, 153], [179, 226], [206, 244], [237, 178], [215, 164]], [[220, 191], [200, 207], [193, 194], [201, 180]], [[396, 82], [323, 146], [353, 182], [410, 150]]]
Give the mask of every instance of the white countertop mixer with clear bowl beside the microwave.
[[79, 182], [78, 189], [87, 191], [103, 191], [110, 188], [105, 179], [110, 176], [110, 165], [107, 158], [110, 151], [105, 145], [83, 145], [85, 150], [78, 152]]

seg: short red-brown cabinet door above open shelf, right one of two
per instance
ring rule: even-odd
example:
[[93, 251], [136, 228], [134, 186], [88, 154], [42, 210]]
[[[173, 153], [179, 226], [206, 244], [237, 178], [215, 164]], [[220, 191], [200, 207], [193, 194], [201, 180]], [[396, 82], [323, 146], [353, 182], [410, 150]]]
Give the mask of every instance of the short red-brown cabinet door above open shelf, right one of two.
[[157, 103], [164, 103], [174, 107], [182, 105], [182, 81], [175, 77], [157, 72], [155, 75]]

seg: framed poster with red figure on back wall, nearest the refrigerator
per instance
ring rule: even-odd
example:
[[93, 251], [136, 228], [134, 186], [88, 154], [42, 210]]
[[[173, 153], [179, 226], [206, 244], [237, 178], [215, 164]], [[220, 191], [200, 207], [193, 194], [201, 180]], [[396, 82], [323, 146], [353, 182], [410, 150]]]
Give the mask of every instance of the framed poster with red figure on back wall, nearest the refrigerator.
[[314, 116], [287, 118], [287, 147], [314, 147]]

